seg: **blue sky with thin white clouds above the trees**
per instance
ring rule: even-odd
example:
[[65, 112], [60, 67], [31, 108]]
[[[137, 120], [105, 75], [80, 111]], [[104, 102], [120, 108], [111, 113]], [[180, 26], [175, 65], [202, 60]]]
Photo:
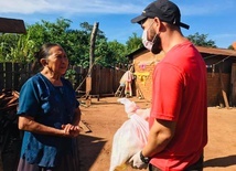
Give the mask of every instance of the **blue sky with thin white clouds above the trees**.
[[[34, 24], [42, 20], [55, 22], [57, 19], [72, 21], [71, 29], [79, 30], [79, 24], [99, 23], [108, 41], [126, 43], [129, 36], [142, 29], [130, 20], [153, 0], [1, 0], [0, 17], [23, 20]], [[217, 47], [227, 49], [236, 42], [236, 0], [172, 0], [181, 10], [181, 21], [190, 25], [181, 29], [185, 36], [206, 34]]]

